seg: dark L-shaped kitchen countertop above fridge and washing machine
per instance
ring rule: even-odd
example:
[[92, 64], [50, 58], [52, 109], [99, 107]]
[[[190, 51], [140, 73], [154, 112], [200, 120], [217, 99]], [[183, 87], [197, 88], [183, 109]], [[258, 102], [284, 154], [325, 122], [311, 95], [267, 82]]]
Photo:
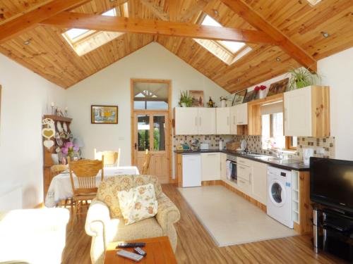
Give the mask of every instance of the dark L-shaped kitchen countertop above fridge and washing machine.
[[[230, 154], [230, 155], [234, 155], [240, 158], [247, 158], [251, 161], [257, 161], [257, 162], [261, 162], [261, 163], [266, 163], [268, 165], [271, 165], [273, 167], [277, 167], [277, 168], [282, 168], [285, 170], [298, 170], [298, 171], [307, 171], [310, 170], [309, 165], [304, 165], [304, 163], [302, 161], [294, 161], [293, 163], [286, 163], [287, 161], [265, 161], [262, 160], [261, 158], [256, 158], [254, 156], [251, 156], [249, 154], [246, 153], [242, 153], [241, 151], [227, 151], [227, 150], [223, 150], [220, 151], [218, 149], [207, 149], [207, 150], [198, 150], [198, 151], [192, 151], [192, 150], [185, 150], [185, 151], [174, 151], [174, 153], [177, 154], [192, 154], [192, 153], [215, 153], [215, 152], [219, 152], [219, 153], [226, 153], [226, 154]], [[262, 156], [270, 156], [270, 155], [266, 155], [263, 153], [258, 153], [259, 155]]]

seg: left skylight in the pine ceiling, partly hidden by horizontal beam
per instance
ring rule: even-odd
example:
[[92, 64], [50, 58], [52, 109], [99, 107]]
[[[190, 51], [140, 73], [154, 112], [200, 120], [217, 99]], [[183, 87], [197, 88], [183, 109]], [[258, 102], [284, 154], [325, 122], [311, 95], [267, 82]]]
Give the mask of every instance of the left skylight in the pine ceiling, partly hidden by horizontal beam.
[[[128, 3], [109, 9], [102, 13], [105, 16], [128, 17]], [[124, 33], [104, 32], [96, 30], [84, 30], [80, 28], [72, 28], [63, 33], [64, 38], [79, 56], [97, 49], [99, 46], [116, 39]]]

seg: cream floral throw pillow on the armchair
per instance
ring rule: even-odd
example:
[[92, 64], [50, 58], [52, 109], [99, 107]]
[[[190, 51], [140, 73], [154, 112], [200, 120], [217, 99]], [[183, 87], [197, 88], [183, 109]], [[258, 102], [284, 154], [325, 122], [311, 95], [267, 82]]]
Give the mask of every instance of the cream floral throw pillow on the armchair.
[[125, 225], [152, 218], [157, 214], [158, 202], [153, 184], [141, 185], [128, 191], [118, 191], [117, 196]]

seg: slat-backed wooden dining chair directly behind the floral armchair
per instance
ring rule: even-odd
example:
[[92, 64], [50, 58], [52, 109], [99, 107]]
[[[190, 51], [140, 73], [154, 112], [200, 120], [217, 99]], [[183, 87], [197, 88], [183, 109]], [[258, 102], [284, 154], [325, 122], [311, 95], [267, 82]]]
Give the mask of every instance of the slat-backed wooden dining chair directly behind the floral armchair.
[[[76, 220], [78, 210], [82, 206], [88, 206], [97, 195], [96, 177], [102, 170], [100, 181], [104, 179], [104, 156], [102, 161], [80, 160], [71, 161], [68, 158], [68, 171], [70, 173], [71, 187], [73, 190], [73, 214], [71, 219], [71, 230]], [[77, 181], [74, 180], [76, 177]]]

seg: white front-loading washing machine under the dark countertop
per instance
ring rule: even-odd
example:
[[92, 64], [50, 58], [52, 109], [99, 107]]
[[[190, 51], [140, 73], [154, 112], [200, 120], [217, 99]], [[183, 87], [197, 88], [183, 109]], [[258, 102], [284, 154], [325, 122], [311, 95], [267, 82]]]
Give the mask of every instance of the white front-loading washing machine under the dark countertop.
[[268, 166], [267, 214], [287, 227], [292, 220], [292, 172]]

